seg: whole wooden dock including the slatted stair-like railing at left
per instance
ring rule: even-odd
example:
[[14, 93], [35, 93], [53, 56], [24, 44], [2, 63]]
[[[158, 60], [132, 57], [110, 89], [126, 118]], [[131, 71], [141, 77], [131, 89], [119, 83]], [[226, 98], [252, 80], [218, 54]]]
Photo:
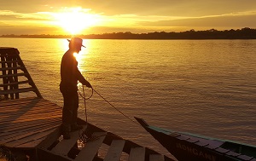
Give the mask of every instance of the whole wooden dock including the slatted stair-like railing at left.
[[[0, 147], [26, 152], [32, 161], [172, 161], [80, 118], [84, 130], [63, 140], [62, 108], [42, 98], [18, 49], [0, 47], [0, 58]], [[28, 92], [36, 97], [21, 98]], [[90, 140], [81, 143], [84, 131]]]

